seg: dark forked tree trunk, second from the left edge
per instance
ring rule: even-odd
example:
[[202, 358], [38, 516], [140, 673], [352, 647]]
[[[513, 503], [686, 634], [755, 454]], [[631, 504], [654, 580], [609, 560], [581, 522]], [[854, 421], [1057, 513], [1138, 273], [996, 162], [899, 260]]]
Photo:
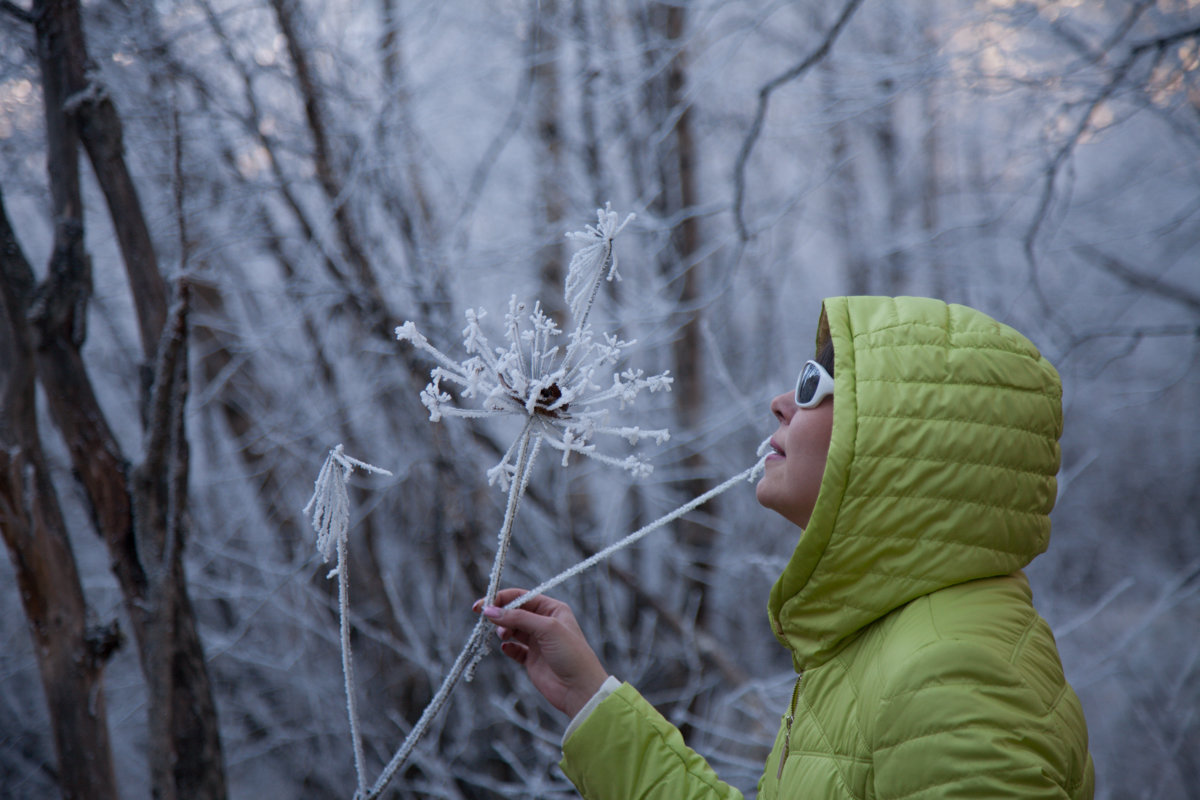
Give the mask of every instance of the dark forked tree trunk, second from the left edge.
[[[161, 395], [162, 408], [169, 414], [163, 416], [150, 405], [144, 409], [148, 439], [155, 441], [169, 434], [172, 468], [164, 469], [164, 458], [148, 453], [139, 468], [146, 477], [131, 486], [128, 464], [96, 401], [82, 356], [91, 269], [83, 251], [79, 144], [86, 148], [108, 203], [148, 359], [160, 349], [167, 320], [166, 284], [125, 164], [115, 107], [97, 78], [88, 76], [78, 0], [41, 2], [35, 6], [35, 19], [46, 98], [48, 167], [59, 221], [56, 258], [28, 311], [38, 331], [37, 373], [49, 398], [50, 415], [86, 492], [97, 531], [108, 546], [137, 638], [149, 688], [154, 793], [163, 800], [218, 800], [226, 796], [226, 787], [216, 705], [182, 569], [187, 495], [187, 446], [182, 431], [186, 357], [179, 354], [184, 333], [173, 330], [168, 337], [175, 343], [170, 373], [163, 375], [154, 369], [146, 373], [155, 385], [173, 387]], [[66, 246], [68, 237], [73, 243]], [[32, 283], [31, 271], [25, 279]], [[162, 368], [162, 357], [154, 367]], [[169, 515], [134, 511], [148, 507], [150, 493], [169, 498]]]

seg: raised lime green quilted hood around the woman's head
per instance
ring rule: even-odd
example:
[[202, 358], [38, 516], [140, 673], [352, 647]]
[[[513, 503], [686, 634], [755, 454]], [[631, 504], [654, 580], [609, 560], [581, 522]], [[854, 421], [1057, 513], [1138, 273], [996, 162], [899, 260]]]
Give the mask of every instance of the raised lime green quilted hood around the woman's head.
[[1033, 344], [965, 306], [832, 297], [829, 457], [809, 527], [772, 588], [797, 669], [946, 587], [1020, 570], [1045, 551], [1062, 384]]

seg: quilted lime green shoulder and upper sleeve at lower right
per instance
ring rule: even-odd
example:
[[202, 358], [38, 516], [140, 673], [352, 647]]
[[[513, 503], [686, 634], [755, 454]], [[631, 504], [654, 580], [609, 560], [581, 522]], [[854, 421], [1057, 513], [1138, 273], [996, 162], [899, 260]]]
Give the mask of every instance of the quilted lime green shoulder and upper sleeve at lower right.
[[1091, 796], [1072, 732], [1044, 694], [992, 650], [955, 640], [924, 648], [890, 676], [878, 705], [876, 798]]

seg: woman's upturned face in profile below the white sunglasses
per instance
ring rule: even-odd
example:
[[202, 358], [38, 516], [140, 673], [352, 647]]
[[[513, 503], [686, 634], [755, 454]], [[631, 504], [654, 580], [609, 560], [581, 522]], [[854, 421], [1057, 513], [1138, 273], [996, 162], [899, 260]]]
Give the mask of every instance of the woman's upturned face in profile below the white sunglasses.
[[816, 408], [805, 409], [796, 405], [793, 392], [785, 392], [770, 401], [770, 413], [779, 420], [779, 431], [770, 438], [775, 452], [767, 456], [755, 495], [763, 507], [805, 528], [817, 503], [829, 455], [833, 396]]

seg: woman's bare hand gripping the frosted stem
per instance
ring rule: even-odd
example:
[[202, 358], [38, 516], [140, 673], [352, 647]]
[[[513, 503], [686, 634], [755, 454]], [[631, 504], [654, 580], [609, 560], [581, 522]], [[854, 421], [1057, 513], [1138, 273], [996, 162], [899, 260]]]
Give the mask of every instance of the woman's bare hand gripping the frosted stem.
[[524, 666], [542, 697], [574, 717], [608, 673], [566, 603], [539, 595], [521, 608], [500, 608], [523, 594], [524, 589], [502, 589], [496, 594], [496, 606], [484, 608], [484, 601], [478, 600], [474, 609], [496, 624], [503, 642], [500, 650]]

